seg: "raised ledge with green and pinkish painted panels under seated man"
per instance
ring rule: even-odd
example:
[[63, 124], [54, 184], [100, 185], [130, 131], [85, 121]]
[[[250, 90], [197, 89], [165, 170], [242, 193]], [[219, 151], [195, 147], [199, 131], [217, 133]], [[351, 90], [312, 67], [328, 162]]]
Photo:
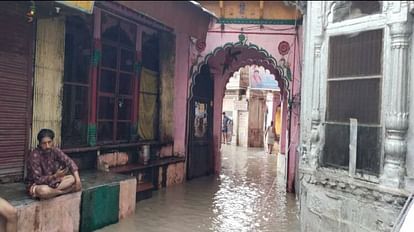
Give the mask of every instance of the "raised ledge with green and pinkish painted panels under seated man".
[[23, 183], [0, 185], [0, 196], [18, 211], [18, 231], [93, 231], [135, 213], [134, 177], [98, 171], [84, 171], [80, 176], [81, 192], [50, 200], [32, 199]]

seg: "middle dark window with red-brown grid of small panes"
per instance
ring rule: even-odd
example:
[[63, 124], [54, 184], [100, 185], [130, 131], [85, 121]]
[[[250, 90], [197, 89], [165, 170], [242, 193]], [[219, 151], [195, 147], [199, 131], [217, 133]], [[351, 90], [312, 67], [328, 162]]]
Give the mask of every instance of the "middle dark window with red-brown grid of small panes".
[[136, 25], [102, 14], [102, 59], [98, 77], [98, 143], [130, 140]]

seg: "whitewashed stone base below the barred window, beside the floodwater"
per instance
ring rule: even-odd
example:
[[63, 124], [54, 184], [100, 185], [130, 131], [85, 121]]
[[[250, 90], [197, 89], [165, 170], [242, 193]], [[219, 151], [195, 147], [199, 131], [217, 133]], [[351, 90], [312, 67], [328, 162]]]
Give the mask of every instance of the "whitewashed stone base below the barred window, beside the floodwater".
[[408, 194], [320, 169], [300, 174], [301, 231], [392, 230]]

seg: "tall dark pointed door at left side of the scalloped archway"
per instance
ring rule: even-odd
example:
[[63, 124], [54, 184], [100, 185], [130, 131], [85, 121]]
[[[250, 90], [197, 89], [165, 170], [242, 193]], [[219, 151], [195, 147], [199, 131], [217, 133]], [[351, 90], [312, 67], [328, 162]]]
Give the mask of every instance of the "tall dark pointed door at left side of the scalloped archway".
[[189, 101], [187, 178], [213, 173], [213, 88], [208, 65], [195, 77]]

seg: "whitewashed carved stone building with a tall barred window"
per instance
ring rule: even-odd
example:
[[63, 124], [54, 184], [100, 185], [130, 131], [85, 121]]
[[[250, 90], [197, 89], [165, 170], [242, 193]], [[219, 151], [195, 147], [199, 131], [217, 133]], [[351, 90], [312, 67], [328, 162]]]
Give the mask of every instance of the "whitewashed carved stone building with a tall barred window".
[[413, 190], [412, 8], [307, 3], [302, 231], [390, 231]]

